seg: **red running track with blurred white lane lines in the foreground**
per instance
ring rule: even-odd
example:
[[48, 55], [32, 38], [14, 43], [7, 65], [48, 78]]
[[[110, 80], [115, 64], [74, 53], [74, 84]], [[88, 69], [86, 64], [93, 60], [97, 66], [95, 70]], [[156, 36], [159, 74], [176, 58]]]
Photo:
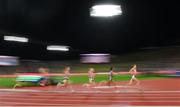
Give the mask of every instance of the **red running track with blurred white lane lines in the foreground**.
[[174, 83], [174, 81], [178, 82], [180, 79], [142, 81], [138, 89], [128, 87], [111, 91], [2, 89], [0, 106], [179, 106], [180, 86], [163, 83]]

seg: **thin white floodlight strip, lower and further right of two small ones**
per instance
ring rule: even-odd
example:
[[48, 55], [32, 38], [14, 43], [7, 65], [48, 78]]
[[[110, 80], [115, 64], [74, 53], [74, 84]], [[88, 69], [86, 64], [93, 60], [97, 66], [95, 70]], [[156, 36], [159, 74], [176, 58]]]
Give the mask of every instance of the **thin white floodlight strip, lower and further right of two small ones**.
[[49, 45], [47, 46], [49, 51], [69, 51], [69, 46], [60, 46], [60, 45]]

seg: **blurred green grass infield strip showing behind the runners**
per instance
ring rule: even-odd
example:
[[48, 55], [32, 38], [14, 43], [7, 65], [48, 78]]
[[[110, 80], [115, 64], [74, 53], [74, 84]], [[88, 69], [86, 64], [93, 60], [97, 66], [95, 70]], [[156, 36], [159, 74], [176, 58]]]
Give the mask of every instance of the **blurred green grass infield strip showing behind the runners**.
[[[153, 75], [153, 74], [141, 74], [138, 75], [137, 78], [139, 80], [144, 79], [158, 79], [158, 78], [165, 78], [165, 76], [162, 75]], [[63, 77], [60, 76], [51, 76], [49, 77], [49, 80], [52, 85], [56, 85], [59, 81], [62, 81]], [[114, 81], [128, 81], [131, 79], [130, 75], [114, 75], [113, 77]], [[96, 75], [95, 81], [107, 81], [108, 76], [107, 75]], [[79, 75], [79, 76], [71, 76], [70, 82], [72, 84], [83, 84], [88, 83], [88, 77], [87, 75]], [[0, 78], [0, 87], [1, 88], [12, 88], [16, 84], [16, 78]], [[36, 83], [31, 82], [24, 82], [22, 86], [38, 86]]]

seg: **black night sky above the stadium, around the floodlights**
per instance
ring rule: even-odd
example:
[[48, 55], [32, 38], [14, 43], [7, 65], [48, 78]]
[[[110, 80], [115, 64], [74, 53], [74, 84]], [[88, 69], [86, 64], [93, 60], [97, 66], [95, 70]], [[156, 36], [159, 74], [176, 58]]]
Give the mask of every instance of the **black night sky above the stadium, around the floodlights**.
[[[122, 6], [123, 14], [94, 18], [94, 4]], [[141, 47], [178, 45], [177, 0], [0, 0], [1, 35], [22, 35], [30, 43], [0, 41], [0, 54], [52, 59], [74, 53], [121, 54]], [[47, 44], [71, 46], [71, 52], [47, 52]]]

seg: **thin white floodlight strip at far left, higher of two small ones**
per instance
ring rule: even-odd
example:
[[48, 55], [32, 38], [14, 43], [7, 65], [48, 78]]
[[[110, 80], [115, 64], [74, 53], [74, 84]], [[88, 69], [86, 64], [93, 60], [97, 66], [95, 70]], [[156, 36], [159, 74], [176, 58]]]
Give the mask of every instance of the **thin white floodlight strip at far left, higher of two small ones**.
[[5, 41], [28, 42], [28, 38], [17, 36], [4, 36]]

